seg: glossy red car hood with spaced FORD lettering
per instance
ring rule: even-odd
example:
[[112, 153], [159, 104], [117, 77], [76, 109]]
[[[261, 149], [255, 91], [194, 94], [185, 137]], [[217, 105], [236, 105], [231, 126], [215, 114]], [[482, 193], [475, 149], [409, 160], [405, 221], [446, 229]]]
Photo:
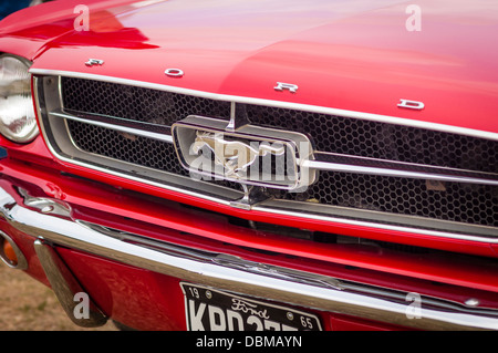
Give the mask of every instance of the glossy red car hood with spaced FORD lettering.
[[[70, 18], [30, 30], [50, 27], [58, 34], [44, 42], [33, 69], [394, 116], [498, 138], [498, 3], [418, 1], [419, 31], [407, 28], [408, 4], [141, 1], [92, 8], [90, 31], [73, 29], [71, 8]], [[89, 68], [91, 58], [104, 64]], [[185, 75], [166, 76], [170, 68]], [[299, 90], [278, 92], [277, 82]], [[398, 107], [401, 98], [425, 107]]]

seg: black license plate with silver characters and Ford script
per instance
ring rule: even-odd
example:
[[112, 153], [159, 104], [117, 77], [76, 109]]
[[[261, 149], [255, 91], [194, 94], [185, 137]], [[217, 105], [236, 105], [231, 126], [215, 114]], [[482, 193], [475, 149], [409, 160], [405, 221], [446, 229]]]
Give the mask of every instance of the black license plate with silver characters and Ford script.
[[321, 331], [317, 315], [181, 282], [189, 331]]

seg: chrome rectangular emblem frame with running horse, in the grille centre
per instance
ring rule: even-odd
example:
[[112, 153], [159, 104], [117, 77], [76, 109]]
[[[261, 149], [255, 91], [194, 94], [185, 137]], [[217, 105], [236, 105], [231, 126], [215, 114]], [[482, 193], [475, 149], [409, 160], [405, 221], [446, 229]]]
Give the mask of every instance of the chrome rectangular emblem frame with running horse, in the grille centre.
[[194, 178], [302, 191], [315, 179], [313, 149], [300, 133], [190, 115], [172, 126], [180, 164]]

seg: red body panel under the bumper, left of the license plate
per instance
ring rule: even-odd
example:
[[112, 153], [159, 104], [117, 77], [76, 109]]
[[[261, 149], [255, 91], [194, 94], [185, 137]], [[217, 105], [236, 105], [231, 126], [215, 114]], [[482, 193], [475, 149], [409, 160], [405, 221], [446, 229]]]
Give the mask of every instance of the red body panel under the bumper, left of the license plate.
[[64, 262], [77, 269], [89, 295], [113, 320], [137, 330], [186, 330], [179, 280], [100, 259], [70, 249], [58, 249]]

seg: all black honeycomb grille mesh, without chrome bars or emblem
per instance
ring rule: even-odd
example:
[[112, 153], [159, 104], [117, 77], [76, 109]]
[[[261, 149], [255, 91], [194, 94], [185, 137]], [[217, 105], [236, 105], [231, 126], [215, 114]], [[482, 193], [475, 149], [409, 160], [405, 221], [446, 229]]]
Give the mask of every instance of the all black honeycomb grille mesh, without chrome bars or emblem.
[[[162, 125], [191, 114], [228, 118], [230, 113], [229, 102], [90, 80], [63, 79], [62, 92], [68, 108]], [[255, 125], [271, 122], [272, 127], [309, 134], [319, 150], [498, 173], [498, 146], [491, 141], [256, 105], [238, 104], [237, 114]], [[82, 150], [188, 176], [173, 144], [80, 122], [68, 126]], [[276, 198], [498, 227], [496, 186], [321, 172], [305, 193], [270, 191]]]

